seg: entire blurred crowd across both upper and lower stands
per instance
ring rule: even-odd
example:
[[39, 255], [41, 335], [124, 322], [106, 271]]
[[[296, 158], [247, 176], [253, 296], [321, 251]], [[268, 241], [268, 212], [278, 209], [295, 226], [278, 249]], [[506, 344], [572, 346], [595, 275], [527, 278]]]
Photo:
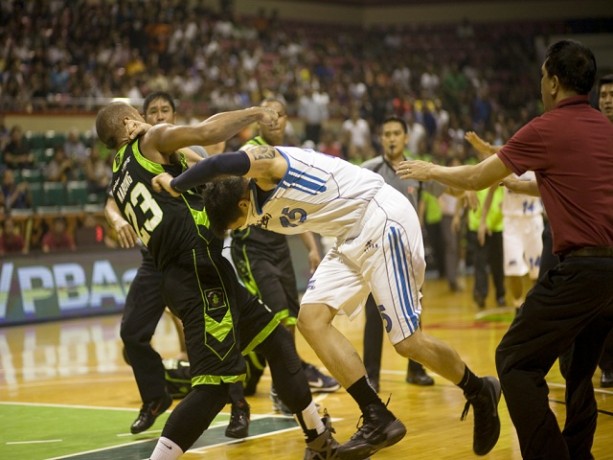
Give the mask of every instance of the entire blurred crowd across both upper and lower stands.
[[[93, 113], [114, 97], [140, 107], [162, 90], [191, 120], [275, 96], [304, 127], [296, 143], [359, 163], [379, 151], [375, 127], [394, 114], [409, 123], [412, 154], [468, 161], [467, 130], [500, 144], [540, 113], [539, 75], [525, 69], [542, 59], [550, 35], [610, 26], [587, 22], [365, 28], [286, 21], [275, 11], [241, 17], [182, 0], [7, 1], [0, 113]], [[104, 200], [111, 155], [95, 133], [30, 133], [0, 115], [0, 151], [6, 214]]]

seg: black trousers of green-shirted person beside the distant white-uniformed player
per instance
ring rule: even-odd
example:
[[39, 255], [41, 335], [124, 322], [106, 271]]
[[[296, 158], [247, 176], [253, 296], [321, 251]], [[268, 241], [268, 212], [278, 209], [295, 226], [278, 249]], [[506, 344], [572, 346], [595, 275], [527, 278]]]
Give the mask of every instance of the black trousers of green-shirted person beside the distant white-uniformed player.
[[486, 299], [489, 292], [488, 272], [492, 275], [496, 299], [504, 298], [504, 252], [502, 246], [502, 232], [492, 232], [485, 237], [485, 244], [481, 246], [477, 239], [477, 232], [468, 232], [468, 243], [472, 247], [473, 264], [475, 269], [475, 297]]

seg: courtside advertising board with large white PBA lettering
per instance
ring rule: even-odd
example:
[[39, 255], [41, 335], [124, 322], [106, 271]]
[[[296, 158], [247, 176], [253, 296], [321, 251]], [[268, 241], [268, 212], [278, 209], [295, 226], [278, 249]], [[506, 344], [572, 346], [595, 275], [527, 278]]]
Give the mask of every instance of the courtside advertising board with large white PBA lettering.
[[140, 261], [138, 250], [4, 258], [0, 326], [119, 312]]

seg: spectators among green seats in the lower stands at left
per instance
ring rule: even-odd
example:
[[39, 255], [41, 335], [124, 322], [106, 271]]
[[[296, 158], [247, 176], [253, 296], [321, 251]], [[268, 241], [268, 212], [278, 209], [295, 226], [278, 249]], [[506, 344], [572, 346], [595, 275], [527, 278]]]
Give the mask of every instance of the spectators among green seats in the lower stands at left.
[[14, 125], [5, 131], [0, 137], [0, 255], [75, 250], [77, 243], [81, 248], [114, 246], [102, 214], [112, 155], [91, 133], [74, 128], [26, 134]]

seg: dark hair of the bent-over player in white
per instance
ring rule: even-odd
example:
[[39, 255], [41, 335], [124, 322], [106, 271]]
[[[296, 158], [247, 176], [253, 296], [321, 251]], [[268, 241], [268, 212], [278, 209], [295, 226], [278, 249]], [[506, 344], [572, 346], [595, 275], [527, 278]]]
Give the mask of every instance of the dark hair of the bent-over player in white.
[[241, 215], [238, 202], [245, 194], [245, 179], [231, 176], [209, 182], [204, 187], [204, 209], [209, 216], [210, 229], [223, 238], [230, 222]]

